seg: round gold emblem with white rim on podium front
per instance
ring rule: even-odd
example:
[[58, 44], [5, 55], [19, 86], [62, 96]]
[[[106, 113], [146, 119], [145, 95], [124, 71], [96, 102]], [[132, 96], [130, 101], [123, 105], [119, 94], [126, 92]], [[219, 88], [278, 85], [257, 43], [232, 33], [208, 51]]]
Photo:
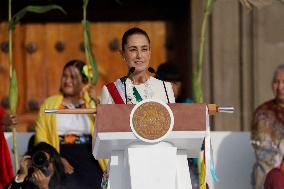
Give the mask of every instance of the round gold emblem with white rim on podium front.
[[173, 127], [173, 114], [168, 105], [144, 100], [131, 112], [130, 125], [133, 133], [145, 142], [159, 142]]

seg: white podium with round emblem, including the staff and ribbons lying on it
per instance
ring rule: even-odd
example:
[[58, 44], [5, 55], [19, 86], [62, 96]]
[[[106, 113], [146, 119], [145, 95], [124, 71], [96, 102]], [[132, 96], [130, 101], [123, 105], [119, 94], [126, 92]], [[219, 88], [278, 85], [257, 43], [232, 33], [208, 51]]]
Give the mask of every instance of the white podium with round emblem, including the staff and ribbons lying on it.
[[204, 173], [208, 178], [211, 172], [216, 180], [208, 115], [217, 112], [233, 113], [234, 108], [216, 104], [168, 106], [144, 100], [135, 106], [109, 104], [98, 105], [97, 109], [45, 110], [56, 114], [97, 114], [93, 155], [96, 159], [110, 159], [108, 189], [192, 188], [187, 157], [199, 155], [204, 138], [203, 161], [210, 165]]

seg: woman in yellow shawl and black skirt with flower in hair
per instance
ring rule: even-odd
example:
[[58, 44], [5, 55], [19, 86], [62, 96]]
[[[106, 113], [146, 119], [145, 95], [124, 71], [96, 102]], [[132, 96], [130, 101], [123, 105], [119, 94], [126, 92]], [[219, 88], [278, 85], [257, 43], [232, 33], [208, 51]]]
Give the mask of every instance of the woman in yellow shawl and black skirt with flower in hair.
[[[87, 114], [45, 114], [45, 109], [93, 108], [95, 92], [89, 87], [84, 62], [65, 64], [60, 93], [41, 105], [35, 127], [35, 143], [46, 142], [60, 152], [66, 172], [77, 181], [77, 188], [100, 188], [102, 170], [92, 156], [94, 116]], [[89, 87], [86, 89], [86, 87]], [[95, 100], [95, 99], [94, 99]]]

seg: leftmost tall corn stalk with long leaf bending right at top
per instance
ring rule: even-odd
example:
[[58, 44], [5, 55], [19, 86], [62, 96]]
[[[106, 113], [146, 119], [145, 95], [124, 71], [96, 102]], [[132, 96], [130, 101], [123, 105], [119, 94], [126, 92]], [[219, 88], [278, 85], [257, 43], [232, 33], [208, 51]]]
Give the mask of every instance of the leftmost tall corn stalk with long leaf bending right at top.
[[[8, 54], [8, 62], [9, 62], [9, 70], [10, 70], [10, 86], [9, 86], [9, 104], [10, 104], [10, 111], [12, 115], [16, 115], [17, 105], [18, 105], [18, 82], [16, 71], [13, 65], [13, 37], [12, 33], [15, 29], [16, 24], [25, 16], [27, 12], [32, 13], [45, 13], [53, 9], [60, 10], [61, 12], [66, 12], [58, 5], [46, 5], [46, 6], [26, 6], [22, 10], [20, 10], [17, 14], [12, 17], [12, 0], [9, 0], [9, 15], [8, 15], [8, 38], [9, 38], [9, 54]], [[19, 169], [19, 156], [17, 150], [17, 137], [16, 137], [16, 125], [12, 125], [12, 136], [13, 136], [13, 154], [15, 159], [15, 172]]]

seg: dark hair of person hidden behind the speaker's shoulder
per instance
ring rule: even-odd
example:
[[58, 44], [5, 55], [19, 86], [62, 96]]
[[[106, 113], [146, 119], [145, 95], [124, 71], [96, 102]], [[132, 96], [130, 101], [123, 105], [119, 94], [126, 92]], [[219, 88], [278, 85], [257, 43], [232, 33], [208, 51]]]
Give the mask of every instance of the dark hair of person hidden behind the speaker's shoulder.
[[176, 82], [182, 80], [179, 65], [171, 61], [159, 65], [156, 77], [169, 82]]

